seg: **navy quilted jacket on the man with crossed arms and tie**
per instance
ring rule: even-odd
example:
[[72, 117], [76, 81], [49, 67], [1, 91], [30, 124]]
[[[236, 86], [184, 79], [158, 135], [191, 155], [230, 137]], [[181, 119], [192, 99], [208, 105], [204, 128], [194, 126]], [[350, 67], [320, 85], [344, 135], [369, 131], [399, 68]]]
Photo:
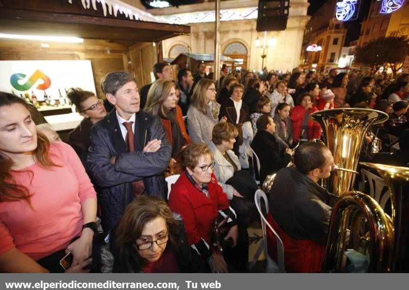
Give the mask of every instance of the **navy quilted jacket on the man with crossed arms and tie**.
[[[91, 131], [87, 164], [94, 183], [100, 188], [98, 201], [102, 211], [102, 226], [108, 231], [121, 219], [132, 202], [132, 182], [142, 180], [143, 194], [160, 196], [166, 200], [168, 188], [163, 174], [168, 167], [171, 146], [159, 117], [140, 110], [135, 117], [135, 151], [128, 152], [113, 109]], [[142, 152], [148, 141], [162, 140], [154, 153]], [[116, 156], [115, 165], [110, 164]]]

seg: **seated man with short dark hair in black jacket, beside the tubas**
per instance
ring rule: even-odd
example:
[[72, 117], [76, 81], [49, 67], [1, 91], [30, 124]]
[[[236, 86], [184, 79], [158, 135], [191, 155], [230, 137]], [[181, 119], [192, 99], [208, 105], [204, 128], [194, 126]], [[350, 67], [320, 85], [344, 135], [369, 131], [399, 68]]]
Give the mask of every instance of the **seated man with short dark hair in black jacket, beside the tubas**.
[[325, 245], [336, 196], [317, 182], [330, 176], [331, 151], [320, 143], [303, 143], [294, 153], [294, 164], [275, 177], [269, 192], [271, 215], [290, 238]]

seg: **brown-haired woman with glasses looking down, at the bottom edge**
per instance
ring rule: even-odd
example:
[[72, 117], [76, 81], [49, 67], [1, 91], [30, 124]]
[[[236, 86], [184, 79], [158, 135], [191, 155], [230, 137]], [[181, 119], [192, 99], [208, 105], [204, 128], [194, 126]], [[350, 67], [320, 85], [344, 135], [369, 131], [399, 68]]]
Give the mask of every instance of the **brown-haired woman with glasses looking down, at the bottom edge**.
[[207, 272], [186, 240], [183, 222], [156, 196], [129, 204], [111, 241], [114, 273]]

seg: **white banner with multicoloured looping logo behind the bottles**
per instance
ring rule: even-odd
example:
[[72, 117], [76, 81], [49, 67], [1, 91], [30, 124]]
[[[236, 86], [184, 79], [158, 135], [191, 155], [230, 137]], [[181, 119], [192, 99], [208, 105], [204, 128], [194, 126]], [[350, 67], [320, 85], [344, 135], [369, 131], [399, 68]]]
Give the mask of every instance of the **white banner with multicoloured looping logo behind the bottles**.
[[65, 90], [80, 87], [96, 93], [89, 60], [5, 60], [0, 61], [0, 91], [17, 96], [34, 93], [44, 100], [44, 91], [52, 99], [66, 96]]

